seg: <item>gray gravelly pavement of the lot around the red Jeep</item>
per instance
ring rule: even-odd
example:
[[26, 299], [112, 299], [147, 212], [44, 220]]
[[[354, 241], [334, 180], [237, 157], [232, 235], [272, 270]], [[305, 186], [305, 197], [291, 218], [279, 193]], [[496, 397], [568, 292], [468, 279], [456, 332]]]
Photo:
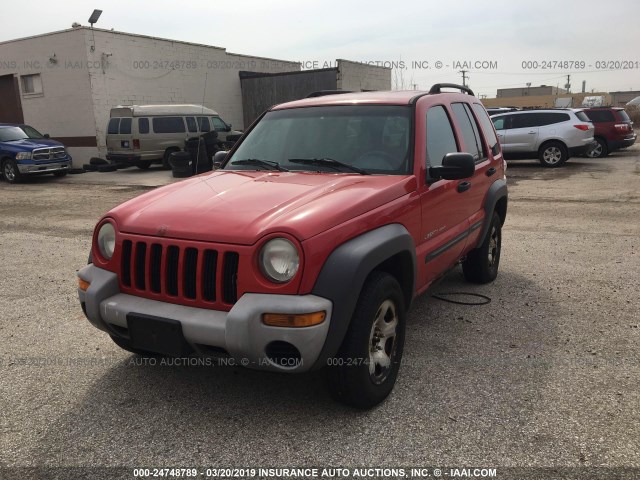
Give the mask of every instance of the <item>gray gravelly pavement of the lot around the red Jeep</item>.
[[419, 298], [398, 384], [369, 412], [334, 403], [320, 374], [141, 365], [86, 321], [75, 270], [99, 216], [148, 187], [0, 182], [0, 477], [480, 466], [636, 478], [640, 148], [507, 174], [498, 280], [472, 286], [457, 269], [435, 288], [492, 302]]

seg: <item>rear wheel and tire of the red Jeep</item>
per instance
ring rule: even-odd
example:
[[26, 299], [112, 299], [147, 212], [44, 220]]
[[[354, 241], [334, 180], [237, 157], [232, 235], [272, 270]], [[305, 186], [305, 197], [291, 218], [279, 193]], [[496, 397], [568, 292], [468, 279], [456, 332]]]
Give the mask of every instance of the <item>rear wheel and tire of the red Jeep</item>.
[[469, 282], [489, 283], [498, 276], [502, 247], [502, 221], [493, 212], [487, 235], [478, 248], [471, 250], [462, 262], [462, 272]]

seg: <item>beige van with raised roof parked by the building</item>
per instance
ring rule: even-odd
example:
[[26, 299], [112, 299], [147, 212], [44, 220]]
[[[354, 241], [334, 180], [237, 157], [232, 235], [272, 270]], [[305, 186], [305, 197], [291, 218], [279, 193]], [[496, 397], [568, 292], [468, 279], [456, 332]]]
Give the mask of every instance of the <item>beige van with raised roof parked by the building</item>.
[[230, 148], [241, 132], [202, 105], [129, 105], [111, 109], [107, 126], [107, 160], [149, 168], [169, 166], [169, 155], [184, 149], [187, 138], [215, 130], [220, 148]]

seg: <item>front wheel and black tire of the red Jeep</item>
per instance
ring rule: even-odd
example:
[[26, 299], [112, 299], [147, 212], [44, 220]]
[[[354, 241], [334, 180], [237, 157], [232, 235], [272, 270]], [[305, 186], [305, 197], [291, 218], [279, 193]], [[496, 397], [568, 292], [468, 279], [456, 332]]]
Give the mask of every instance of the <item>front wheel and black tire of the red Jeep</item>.
[[[402, 360], [405, 315], [398, 281], [388, 273], [373, 272], [362, 288], [342, 345], [326, 368], [333, 398], [368, 409], [391, 393]], [[395, 327], [387, 327], [384, 335], [379, 326], [394, 322]]]

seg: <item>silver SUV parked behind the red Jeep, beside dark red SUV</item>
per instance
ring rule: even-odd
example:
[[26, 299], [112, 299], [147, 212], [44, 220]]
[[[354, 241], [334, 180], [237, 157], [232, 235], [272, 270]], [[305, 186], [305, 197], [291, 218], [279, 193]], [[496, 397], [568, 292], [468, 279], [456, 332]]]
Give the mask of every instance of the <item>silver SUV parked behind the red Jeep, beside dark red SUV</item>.
[[523, 110], [491, 120], [507, 160], [538, 158], [545, 167], [559, 167], [596, 145], [593, 123], [580, 110]]

